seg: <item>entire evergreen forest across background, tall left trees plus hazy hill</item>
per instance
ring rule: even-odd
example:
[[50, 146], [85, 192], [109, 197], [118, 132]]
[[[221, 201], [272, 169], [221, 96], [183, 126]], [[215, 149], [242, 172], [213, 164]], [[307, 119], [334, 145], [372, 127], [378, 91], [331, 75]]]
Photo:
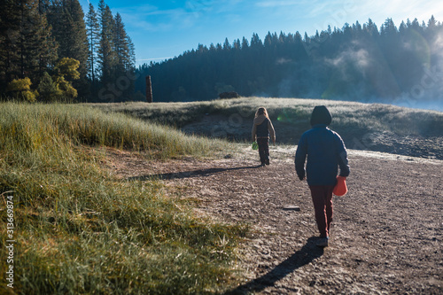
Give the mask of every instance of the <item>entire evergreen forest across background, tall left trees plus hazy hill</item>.
[[[443, 24], [433, 16], [396, 26], [371, 19], [299, 32], [198, 44], [136, 68], [134, 43], [105, 0], [0, 2], [0, 97], [27, 101], [123, 102], [300, 97], [443, 105]], [[154, 41], [153, 41], [154, 42]]]

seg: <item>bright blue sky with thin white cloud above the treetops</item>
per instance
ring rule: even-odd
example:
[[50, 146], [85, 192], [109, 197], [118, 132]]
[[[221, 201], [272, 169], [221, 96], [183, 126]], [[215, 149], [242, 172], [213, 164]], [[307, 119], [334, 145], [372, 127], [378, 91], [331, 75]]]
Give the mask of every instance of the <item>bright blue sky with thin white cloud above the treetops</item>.
[[[80, 0], [85, 14], [89, 2], [97, 10], [98, 0]], [[113, 14], [119, 12], [128, 35], [136, 46], [137, 66], [179, 56], [198, 43], [229, 43], [257, 33], [263, 40], [268, 31], [285, 34], [299, 31], [314, 35], [330, 27], [343, 27], [372, 19], [380, 27], [392, 18], [418, 19], [426, 23], [434, 15], [443, 22], [443, 2], [400, 0], [188, 0], [118, 1], [105, 0]]]

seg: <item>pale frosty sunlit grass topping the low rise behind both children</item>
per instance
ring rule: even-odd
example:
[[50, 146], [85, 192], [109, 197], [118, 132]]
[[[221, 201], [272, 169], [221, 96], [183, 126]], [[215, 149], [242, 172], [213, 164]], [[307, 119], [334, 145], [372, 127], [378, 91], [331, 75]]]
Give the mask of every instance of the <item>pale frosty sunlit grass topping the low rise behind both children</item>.
[[[95, 104], [105, 112], [127, 113], [143, 120], [181, 128], [206, 115], [229, 117], [239, 114], [251, 125], [260, 106], [268, 109], [274, 124], [294, 130], [309, 128], [315, 105], [326, 105], [332, 113], [331, 128], [340, 134], [359, 135], [371, 131], [392, 131], [398, 135], [443, 136], [443, 113], [394, 105], [362, 104], [321, 99], [244, 97], [191, 103]], [[300, 131], [299, 131], [300, 132]]]

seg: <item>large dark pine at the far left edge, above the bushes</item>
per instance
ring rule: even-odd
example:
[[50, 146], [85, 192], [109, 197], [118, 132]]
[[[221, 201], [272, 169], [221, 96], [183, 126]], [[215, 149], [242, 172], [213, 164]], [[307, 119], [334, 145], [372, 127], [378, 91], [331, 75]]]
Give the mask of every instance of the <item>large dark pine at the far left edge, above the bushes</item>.
[[57, 59], [57, 45], [40, 4], [35, 0], [0, 3], [0, 85], [3, 87], [13, 79], [25, 77], [38, 83]]

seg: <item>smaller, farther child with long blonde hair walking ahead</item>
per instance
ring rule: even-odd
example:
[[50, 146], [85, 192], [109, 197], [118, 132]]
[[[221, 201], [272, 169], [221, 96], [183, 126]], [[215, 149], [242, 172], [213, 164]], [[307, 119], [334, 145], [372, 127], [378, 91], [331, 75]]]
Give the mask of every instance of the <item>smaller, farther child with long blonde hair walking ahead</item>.
[[253, 142], [259, 145], [261, 165], [269, 165], [269, 138], [276, 144], [276, 131], [269, 119], [268, 111], [260, 107], [255, 113], [253, 120]]

